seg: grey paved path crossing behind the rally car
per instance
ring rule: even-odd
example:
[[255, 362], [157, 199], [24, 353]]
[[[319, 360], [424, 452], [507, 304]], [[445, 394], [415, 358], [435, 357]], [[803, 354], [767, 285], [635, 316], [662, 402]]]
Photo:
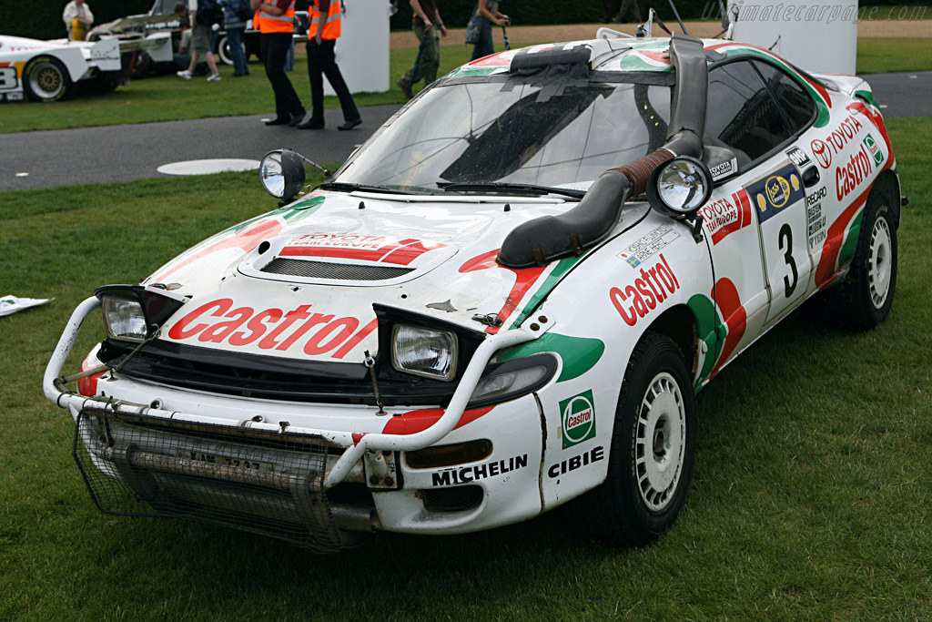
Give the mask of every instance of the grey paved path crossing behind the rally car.
[[[867, 77], [884, 106], [884, 117], [932, 117], [932, 72]], [[363, 107], [363, 125], [353, 131], [336, 131], [343, 119], [335, 109], [326, 111], [328, 129], [323, 131], [266, 127], [262, 116], [251, 115], [3, 134], [0, 191], [158, 177], [156, 169], [169, 162], [261, 159], [281, 147], [316, 162], [338, 162], [399, 107]]]

